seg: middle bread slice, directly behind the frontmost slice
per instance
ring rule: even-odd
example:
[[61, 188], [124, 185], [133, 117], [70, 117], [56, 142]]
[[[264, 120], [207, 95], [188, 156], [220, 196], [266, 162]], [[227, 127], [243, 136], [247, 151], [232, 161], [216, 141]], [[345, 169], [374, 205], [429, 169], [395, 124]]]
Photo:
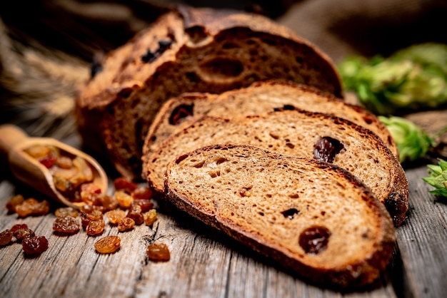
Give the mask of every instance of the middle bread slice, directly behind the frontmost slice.
[[[147, 163], [147, 180], [163, 192], [166, 166], [177, 155], [211, 144], [256, 145], [304, 158], [333, 158], [356, 175], [386, 206], [396, 225], [406, 217], [408, 180], [401, 163], [371, 130], [348, 120], [308, 111], [276, 111], [238, 120], [204, 116], [171, 135]], [[326, 150], [317, 150], [316, 146]], [[325, 153], [328, 153], [325, 154]]]

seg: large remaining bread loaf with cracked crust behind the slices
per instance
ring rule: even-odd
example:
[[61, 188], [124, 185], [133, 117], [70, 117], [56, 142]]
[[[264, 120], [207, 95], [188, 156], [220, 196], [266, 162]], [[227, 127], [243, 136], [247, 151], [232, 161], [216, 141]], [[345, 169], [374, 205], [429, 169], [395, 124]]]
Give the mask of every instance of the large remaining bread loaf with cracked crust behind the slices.
[[141, 149], [164, 101], [283, 78], [341, 96], [333, 62], [316, 46], [255, 14], [179, 6], [106, 55], [79, 92], [84, 144], [141, 178]]

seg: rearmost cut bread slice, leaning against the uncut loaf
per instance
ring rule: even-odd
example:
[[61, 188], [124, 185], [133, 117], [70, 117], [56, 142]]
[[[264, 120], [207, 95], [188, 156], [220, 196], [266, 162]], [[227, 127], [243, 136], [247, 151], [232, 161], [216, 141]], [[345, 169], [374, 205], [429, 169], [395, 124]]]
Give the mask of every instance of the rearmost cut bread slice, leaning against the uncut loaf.
[[[149, 128], [143, 147], [143, 168], [146, 168], [145, 156], [154, 153], [171, 133], [182, 125], [192, 123], [196, 117], [211, 115], [237, 118], [267, 113], [278, 108], [298, 108], [328, 113], [350, 120], [376, 133], [398, 157], [396, 143], [386, 125], [381, 123], [373, 113], [310, 86], [271, 80], [256, 82], [247, 88], [226, 91], [220, 95], [186, 93], [177, 98], [171, 98], [160, 108]], [[144, 176], [143, 178], [146, 179]]]

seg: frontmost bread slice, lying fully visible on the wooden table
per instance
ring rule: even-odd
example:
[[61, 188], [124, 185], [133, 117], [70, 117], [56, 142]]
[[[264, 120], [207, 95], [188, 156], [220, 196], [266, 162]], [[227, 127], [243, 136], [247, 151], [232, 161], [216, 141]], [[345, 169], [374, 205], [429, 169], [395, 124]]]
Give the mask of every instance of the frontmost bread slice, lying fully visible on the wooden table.
[[189, 215], [323, 286], [373, 282], [393, 252], [385, 207], [335, 165], [247, 145], [185, 153], [166, 171]]

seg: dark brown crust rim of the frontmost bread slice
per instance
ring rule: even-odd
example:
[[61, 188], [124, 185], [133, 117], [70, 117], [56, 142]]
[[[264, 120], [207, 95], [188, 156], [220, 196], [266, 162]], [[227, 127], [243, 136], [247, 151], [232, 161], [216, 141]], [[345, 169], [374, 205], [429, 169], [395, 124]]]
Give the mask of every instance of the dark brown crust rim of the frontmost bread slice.
[[[396, 236], [393, 224], [391, 223], [388, 212], [383, 205], [378, 202], [376, 197], [374, 197], [371, 190], [369, 190], [368, 187], [363, 185], [360, 180], [351, 175], [351, 173], [348, 173], [348, 171], [344, 170], [343, 168], [339, 168], [336, 165], [331, 165], [328, 163], [318, 162], [316, 160], [306, 160], [291, 156], [286, 157], [293, 160], [306, 160], [306, 162], [314, 163], [317, 168], [324, 168], [328, 171], [333, 171], [334, 173], [337, 173], [337, 175], [340, 175], [341, 179], [346, 179], [349, 183], [356, 185], [356, 187], [363, 192], [363, 200], [366, 202], [368, 207], [373, 210], [378, 218], [381, 218], [381, 235], [378, 240], [378, 247], [376, 247], [376, 251], [373, 255], [369, 258], [366, 257], [366, 260], [363, 260], [363, 262], [348, 264], [346, 267], [341, 267], [331, 271], [322, 268], [308, 267], [298, 260], [288, 257], [282, 252], [276, 250], [274, 243], [264, 243], [261, 239], [250, 235], [250, 233], [247, 232], [249, 227], [233, 225], [233, 223], [226, 221], [225, 218], [216, 218], [214, 214], [206, 214], [206, 212], [194, 205], [194, 202], [191, 202], [188, 197], [182, 197], [178, 194], [178, 192], [176, 192], [175, 189], [171, 189], [169, 187], [169, 170], [172, 166], [176, 165], [179, 160], [183, 160], [187, 156], [194, 155], [195, 153], [206, 152], [207, 150], [225, 150], [226, 148], [233, 147], [253, 148], [249, 145], [216, 144], [205, 146], [204, 148], [199, 148], [191, 153], [186, 153], [185, 155], [179, 156], [169, 165], [168, 171], [165, 175], [166, 197], [168, 197], [168, 199], [180, 210], [183, 210], [193, 217], [196, 217], [197, 219], [205, 222], [207, 225], [226, 232], [227, 235], [230, 235], [238, 242], [243, 243], [243, 245], [250, 247], [252, 250], [257, 251], [262, 255], [266, 255], [267, 257], [276, 260], [281, 264], [281, 266], [292, 269], [294, 272], [298, 272], [298, 274], [302, 277], [309, 279], [311, 282], [316, 282], [317, 284], [323, 285], [324, 287], [363, 287], [367, 284], [371, 284], [371, 282], [378, 277], [381, 270], [383, 270], [386, 267], [386, 264], [388, 264], [395, 245]], [[254, 150], [263, 151], [266, 154], [271, 155], [272, 158], [284, 158], [282, 155], [272, 153], [268, 150], [259, 148]], [[361, 274], [359, 274], [358, 277], [353, 277], [352, 272], [354, 271], [361, 272]]]

